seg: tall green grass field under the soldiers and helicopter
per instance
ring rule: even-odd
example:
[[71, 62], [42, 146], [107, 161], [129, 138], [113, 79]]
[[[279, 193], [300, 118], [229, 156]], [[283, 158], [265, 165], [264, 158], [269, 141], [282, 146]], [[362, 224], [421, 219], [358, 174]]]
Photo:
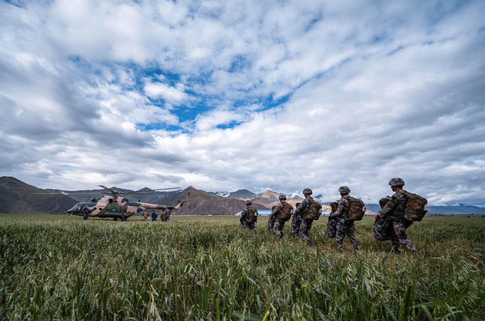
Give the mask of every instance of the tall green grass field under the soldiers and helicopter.
[[266, 222], [2, 214], [0, 320], [485, 319], [485, 218], [424, 219], [408, 230], [419, 253], [400, 255], [372, 219], [356, 255], [348, 239], [336, 253], [326, 218], [314, 248]]

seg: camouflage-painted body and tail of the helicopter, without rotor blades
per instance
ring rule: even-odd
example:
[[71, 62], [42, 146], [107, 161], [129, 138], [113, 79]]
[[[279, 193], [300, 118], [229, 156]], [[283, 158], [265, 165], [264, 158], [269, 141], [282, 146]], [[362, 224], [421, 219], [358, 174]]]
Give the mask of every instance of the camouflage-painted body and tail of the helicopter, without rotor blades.
[[102, 198], [93, 198], [91, 199], [91, 202], [77, 203], [73, 208], [68, 210], [67, 213], [83, 216], [84, 212], [87, 210], [89, 212], [89, 217], [127, 219], [146, 209], [169, 208], [171, 210], [179, 210], [184, 202], [185, 200], [177, 206], [169, 206], [132, 202], [126, 197], [106, 195]]

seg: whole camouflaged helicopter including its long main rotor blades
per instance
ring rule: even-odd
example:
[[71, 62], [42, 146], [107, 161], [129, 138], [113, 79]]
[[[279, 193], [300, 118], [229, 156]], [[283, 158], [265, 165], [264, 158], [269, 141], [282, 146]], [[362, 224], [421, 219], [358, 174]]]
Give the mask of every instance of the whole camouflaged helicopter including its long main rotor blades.
[[[130, 216], [135, 215], [136, 213], [140, 213], [146, 209], [170, 209], [170, 210], [179, 210], [183, 203], [187, 200], [181, 201], [177, 206], [169, 206], [169, 205], [160, 205], [160, 204], [151, 204], [151, 203], [140, 203], [130, 201], [126, 198], [125, 194], [150, 194], [145, 192], [150, 191], [157, 191], [157, 190], [164, 190], [164, 189], [176, 189], [180, 187], [171, 187], [171, 188], [159, 188], [159, 189], [147, 189], [143, 191], [134, 191], [134, 192], [120, 192], [117, 190], [113, 190], [106, 186], [98, 185], [106, 190], [108, 190], [109, 195], [95, 195], [90, 200], [90, 202], [81, 202], [74, 205], [70, 210], [67, 211], [69, 215], [77, 215], [83, 216], [86, 211], [88, 211], [88, 217], [97, 217], [97, 218], [113, 218], [113, 220], [121, 219], [122, 221], [126, 221]], [[54, 194], [89, 194], [93, 195], [93, 193], [29, 193], [32, 195], [54, 195]], [[100, 197], [101, 196], [101, 197]]]

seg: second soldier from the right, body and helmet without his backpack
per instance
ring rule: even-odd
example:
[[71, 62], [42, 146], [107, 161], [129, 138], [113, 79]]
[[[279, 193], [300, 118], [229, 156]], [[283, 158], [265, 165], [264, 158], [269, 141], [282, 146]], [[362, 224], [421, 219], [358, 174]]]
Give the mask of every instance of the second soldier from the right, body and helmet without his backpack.
[[349, 237], [349, 240], [352, 242], [352, 245], [354, 245], [354, 250], [357, 251], [359, 249], [359, 241], [354, 234], [356, 232], [356, 226], [354, 225], [353, 221], [345, 221], [346, 214], [350, 210], [350, 202], [345, 197], [349, 195], [350, 188], [348, 186], [340, 186], [339, 193], [341, 199], [339, 201], [339, 204], [337, 205], [337, 210], [331, 214], [332, 217], [335, 217], [338, 220], [337, 233], [335, 234], [335, 240], [337, 241], [338, 246], [337, 251], [341, 250], [343, 238], [346, 234], [347, 237]]

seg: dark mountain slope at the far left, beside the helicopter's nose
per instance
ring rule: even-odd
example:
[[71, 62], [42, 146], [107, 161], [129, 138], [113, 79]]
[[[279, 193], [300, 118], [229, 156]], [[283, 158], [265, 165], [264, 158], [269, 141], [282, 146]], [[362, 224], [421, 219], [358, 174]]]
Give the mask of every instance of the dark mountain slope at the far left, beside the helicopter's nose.
[[0, 213], [67, 214], [66, 211], [78, 203], [67, 195], [28, 195], [29, 193], [46, 191], [15, 177], [0, 177]]

